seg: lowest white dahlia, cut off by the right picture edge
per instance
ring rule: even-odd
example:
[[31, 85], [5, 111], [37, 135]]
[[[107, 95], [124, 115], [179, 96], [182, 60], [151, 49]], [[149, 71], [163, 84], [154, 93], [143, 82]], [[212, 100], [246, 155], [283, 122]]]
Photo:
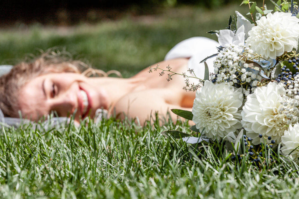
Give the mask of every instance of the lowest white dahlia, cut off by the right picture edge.
[[284, 131], [284, 135], [281, 136], [281, 142], [283, 147], [281, 147], [282, 153], [286, 155], [291, 155], [293, 159], [299, 157], [299, 124], [294, 124], [289, 126], [288, 130]]

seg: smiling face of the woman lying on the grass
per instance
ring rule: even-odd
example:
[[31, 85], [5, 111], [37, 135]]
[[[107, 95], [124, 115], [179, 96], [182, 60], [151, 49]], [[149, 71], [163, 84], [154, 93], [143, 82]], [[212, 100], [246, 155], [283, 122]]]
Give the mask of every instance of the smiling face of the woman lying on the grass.
[[50, 73], [33, 78], [19, 93], [22, 116], [39, 120], [52, 111], [60, 117], [74, 113], [79, 120], [94, 117], [98, 108], [108, 108], [105, 90], [93, 85], [89, 78], [77, 73]]

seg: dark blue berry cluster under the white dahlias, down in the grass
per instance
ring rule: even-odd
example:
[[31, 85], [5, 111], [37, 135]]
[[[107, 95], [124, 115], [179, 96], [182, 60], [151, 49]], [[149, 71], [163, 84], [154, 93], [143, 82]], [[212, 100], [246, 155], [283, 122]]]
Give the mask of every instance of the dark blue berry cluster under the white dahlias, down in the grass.
[[[263, 135], [259, 134], [259, 137], [262, 138]], [[253, 145], [250, 144], [250, 141], [252, 140], [250, 137], [247, 137], [244, 135], [243, 138], [244, 138], [244, 145], [247, 148], [246, 151], [248, 151], [248, 153], [249, 153], [249, 160], [251, 160], [251, 163], [256, 165], [257, 167], [260, 167], [262, 165], [262, 162], [266, 158], [268, 151], [270, 151], [271, 154], [274, 153], [274, 151], [272, 151], [271, 149], [273, 148], [273, 145], [275, 144], [275, 140], [272, 140], [271, 136], [265, 138], [265, 139], [271, 140], [271, 144], [265, 145], [263, 142], [261, 142], [257, 149], [256, 149], [256, 147], [254, 147]], [[267, 143], [267, 142], [265, 142], [265, 143]], [[238, 160], [238, 162], [240, 162], [242, 160], [242, 156], [243, 156], [242, 154], [237, 154], [237, 156], [233, 156], [233, 157], [231, 157], [231, 159]], [[272, 155], [270, 155], [269, 158], [271, 159], [271, 162], [274, 161]]]

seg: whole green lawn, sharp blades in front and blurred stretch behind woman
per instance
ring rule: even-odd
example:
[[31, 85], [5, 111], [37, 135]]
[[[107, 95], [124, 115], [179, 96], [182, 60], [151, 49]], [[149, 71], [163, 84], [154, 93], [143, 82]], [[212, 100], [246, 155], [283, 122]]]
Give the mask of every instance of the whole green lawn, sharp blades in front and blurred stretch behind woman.
[[[177, 42], [226, 27], [236, 5], [221, 10], [167, 9], [152, 16], [66, 29], [33, 25], [0, 31], [0, 63], [15, 64], [38, 49], [65, 48], [75, 58], [125, 77], [163, 60]], [[54, 129], [0, 129], [0, 198], [298, 198], [298, 165], [241, 166], [231, 154], [161, 135], [191, 133], [186, 123], [103, 120]]]

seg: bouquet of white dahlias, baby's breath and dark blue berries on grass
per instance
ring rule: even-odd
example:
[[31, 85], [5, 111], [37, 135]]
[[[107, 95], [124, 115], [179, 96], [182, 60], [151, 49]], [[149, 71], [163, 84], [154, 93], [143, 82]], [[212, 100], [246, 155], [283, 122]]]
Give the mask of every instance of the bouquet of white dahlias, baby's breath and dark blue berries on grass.
[[[265, 4], [242, 4], [249, 5], [251, 19], [236, 11], [237, 17], [230, 18], [228, 29], [209, 32], [216, 34], [221, 46], [218, 54], [207, 57], [214, 59], [214, 71], [206, 71], [205, 79], [195, 86], [203, 85], [196, 91], [192, 113], [173, 112], [192, 119], [196, 125], [191, 130], [205, 140], [233, 143], [234, 152], [243, 144], [257, 165], [264, 153], [257, 148], [262, 145], [267, 150], [281, 145], [277, 150], [298, 161], [298, 5], [279, 1], [274, 3], [274, 10], [267, 10]], [[184, 140], [189, 139], [193, 144], [202, 141], [190, 136]]]

